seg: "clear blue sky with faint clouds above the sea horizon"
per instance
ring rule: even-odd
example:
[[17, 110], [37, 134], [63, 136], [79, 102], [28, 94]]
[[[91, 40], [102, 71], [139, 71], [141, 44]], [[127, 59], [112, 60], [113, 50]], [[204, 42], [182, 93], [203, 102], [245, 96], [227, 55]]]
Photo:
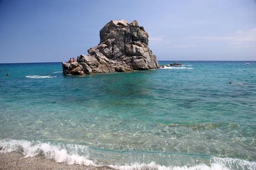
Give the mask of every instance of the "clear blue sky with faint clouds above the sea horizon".
[[0, 0], [0, 63], [62, 62], [136, 20], [159, 61], [255, 61], [256, 0]]

